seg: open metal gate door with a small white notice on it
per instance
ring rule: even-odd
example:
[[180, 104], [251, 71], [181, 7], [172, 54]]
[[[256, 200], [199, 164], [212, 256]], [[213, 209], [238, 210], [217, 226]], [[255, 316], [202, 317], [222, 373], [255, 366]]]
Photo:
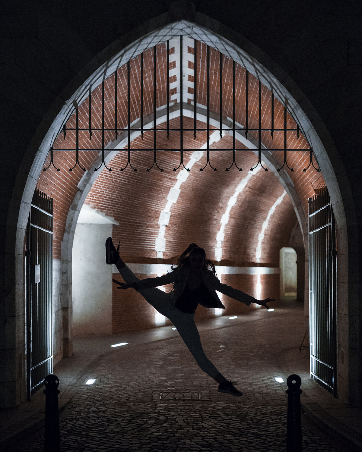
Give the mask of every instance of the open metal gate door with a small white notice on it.
[[53, 200], [38, 189], [26, 231], [27, 397], [52, 373], [52, 223]]

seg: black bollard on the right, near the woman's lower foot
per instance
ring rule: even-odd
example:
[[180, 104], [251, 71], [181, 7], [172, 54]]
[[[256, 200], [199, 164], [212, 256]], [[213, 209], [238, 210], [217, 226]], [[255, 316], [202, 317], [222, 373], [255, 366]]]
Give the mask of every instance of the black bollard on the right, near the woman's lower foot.
[[302, 452], [302, 419], [300, 416], [300, 389], [302, 380], [299, 375], [290, 375], [286, 384], [288, 389], [288, 413], [286, 415], [286, 452]]

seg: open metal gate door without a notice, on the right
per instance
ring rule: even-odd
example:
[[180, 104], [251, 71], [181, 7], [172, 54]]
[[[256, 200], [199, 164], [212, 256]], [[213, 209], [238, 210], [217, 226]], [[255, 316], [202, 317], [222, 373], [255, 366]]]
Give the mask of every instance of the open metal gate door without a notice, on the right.
[[309, 198], [310, 374], [337, 389], [336, 237], [327, 188]]

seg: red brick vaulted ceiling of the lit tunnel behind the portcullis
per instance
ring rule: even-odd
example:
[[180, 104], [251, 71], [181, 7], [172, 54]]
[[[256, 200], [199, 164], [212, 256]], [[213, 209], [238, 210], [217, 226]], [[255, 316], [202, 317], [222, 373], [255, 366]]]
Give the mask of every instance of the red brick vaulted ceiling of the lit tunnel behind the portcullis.
[[[176, 40], [177, 41], [177, 40]], [[184, 66], [187, 67], [184, 81], [184, 102], [194, 103], [195, 71], [194, 71], [194, 48], [193, 40], [188, 40], [186, 47]], [[177, 43], [177, 42], [176, 42]], [[171, 44], [170, 44], [171, 47]], [[176, 52], [175, 52], [176, 48]], [[206, 105], [206, 45], [197, 42], [197, 55], [199, 59], [197, 71], [197, 99], [198, 105]], [[170, 99], [171, 104], [180, 101], [180, 86], [177, 79], [177, 47], [171, 47], [170, 55]], [[172, 57], [174, 55], [174, 57]], [[153, 52], [149, 49], [143, 53], [144, 63], [144, 106], [143, 116], [150, 115], [153, 110]], [[166, 44], [157, 45], [157, 108], [166, 104]], [[219, 52], [211, 49], [210, 52], [210, 110], [219, 115]], [[223, 116], [233, 117], [232, 108], [232, 68], [233, 61], [227, 57], [223, 58]], [[172, 72], [173, 71], [173, 72]], [[118, 127], [127, 127], [127, 68], [126, 65], [117, 71], [118, 78], [118, 103], [117, 120]], [[130, 85], [131, 123], [136, 121], [140, 114], [140, 56], [130, 61]], [[246, 71], [236, 65], [236, 122], [245, 126], [246, 122]], [[101, 88], [96, 87], [91, 94], [92, 98], [92, 127], [100, 124], [101, 115]], [[271, 127], [270, 102], [271, 92], [262, 85], [262, 127]], [[186, 100], [187, 99], [187, 100]], [[284, 125], [284, 107], [278, 99], [275, 99], [274, 120], [275, 128]], [[258, 80], [249, 74], [249, 127], [257, 127], [258, 122]], [[67, 122], [67, 128], [75, 127], [75, 114]], [[80, 126], [87, 128], [89, 124], [89, 104], [86, 99], [79, 107]], [[193, 119], [184, 116], [184, 127], [193, 128]], [[180, 118], [170, 120], [170, 127], [177, 128]], [[294, 119], [287, 113], [287, 126], [295, 128]], [[105, 80], [105, 127], [114, 128], [114, 75]], [[158, 124], [157, 128], [166, 127], [165, 123]], [[206, 124], [198, 121], [198, 127], [206, 128]], [[212, 127], [211, 127], [212, 128]], [[194, 140], [193, 132], [185, 132], [183, 136], [184, 148], [202, 148], [207, 140], [207, 132], [197, 132]], [[213, 133], [213, 132], [211, 132]], [[215, 132], [218, 134], [218, 132]], [[249, 132], [249, 137], [257, 139], [257, 132]], [[215, 137], [214, 137], [215, 138]], [[114, 131], [105, 132], [105, 145], [115, 139]], [[101, 134], [93, 132], [90, 139], [89, 132], [80, 132], [80, 148], [100, 148]], [[294, 172], [289, 173], [295, 185], [297, 194], [302, 202], [304, 211], [307, 212], [307, 200], [314, 194], [312, 184], [323, 183], [321, 173], [314, 170], [302, 172], [309, 164], [309, 155], [303, 149], [307, 149], [308, 143], [300, 134], [296, 139], [295, 132], [288, 132], [288, 147], [300, 151], [294, 151], [288, 155], [288, 164], [294, 167]], [[284, 146], [282, 132], [274, 132], [271, 139], [270, 132], [262, 132], [262, 143], [268, 148], [281, 148]], [[42, 172], [38, 180], [38, 188], [52, 196], [54, 199], [54, 257], [60, 258], [60, 245], [63, 239], [67, 214], [73, 202], [83, 172], [76, 167], [72, 172], [69, 168], [75, 162], [75, 153], [71, 151], [56, 151], [75, 147], [75, 132], [67, 131], [66, 137], [59, 134], [54, 142], [54, 164], [60, 168], [57, 172], [52, 166]], [[140, 137], [131, 143], [133, 148], [150, 149], [153, 147], [153, 132], [145, 132], [143, 140]], [[161, 149], [179, 148], [179, 132], [170, 132], [167, 140], [166, 132], [157, 132], [157, 147]], [[211, 144], [211, 149], [232, 148], [232, 137], [224, 135], [220, 141]], [[242, 142], [237, 141], [236, 147], [243, 149]], [[157, 169], [146, 172], [146, 168], [152, 165], [153, 153], [150, 151], [134, 151], [131, 153], [132, 165], [138, 169], [133, 172], [130, 169], [123, 173], [119, 170], [127, 163], [126, 153], [119, 152], [109, 166], [112, 172], [102, 170], [100, 176], [91, 188], [86, 203], [92, 207], [105, 212], [119, 221], [119, 226], [114, 226], [114, 239], [121, 240], [123, 244], [124, 258], [126, 260], [150, 261], [157, 258], [155, 243], [161, 237], [166, 244], [162, 258], [174, 260], [174, 257], [191, 242], [204, 246], [211, 259], [215, 258], [215, 249], [219, 248], [221, 263], [233, 265], [260, 264], [267, 266], [279, 265], [279, 249], [288, 245], [290, 231], [295, 226], [296, 217], [288, 196], [283, 196], [283, 188], [271, 172], [256, 171], [251, 175], [248, 170], [257, 164], [257, 156], [250, 152], [238, 152], [237, 163], [243, 168], [239, 172], [233, 167], [229, 172], [225, 168], [232, 162], [231, 152], [211, 152], [210, 162], [217, 168], [217, 172], [210, 168], [200, 172], [201, 166], [205, 165], [204, 155], [199, 154], [200, 160], [194, 162], [191, 172], [185, 180], [177, 179], [181, 170], [173, 172], [172, 169], [180, 163], [178, 152], [158, 152], [157, 162], [161, 173]], [[94, 161], [99, 151], [81, 151], [80, 163], [86, 170], [93, 171]], [[185, 152], [184, 162], [192, 157], [193, 153]], [[273, 152], [274, 157], [283, 163], [282, 153]], [[195, 160], [195, 159], [194, 159]], [[49, 164], [49, 156], [45, 166]], [[183, 176], [182, 176], [183, 177]], [[237, 193], [243, 179], [247, 183]], [[175, 185], [176, 184], [176, 185]], [[179, 184], [179, 186], [177, 185]], [[241, 184], [241, 185], [240, 185]], [[172, 188], [180, 190], [176, 202], [169, 209], [170, 219], [164, 225], [164, 231], [160, 235], [160, 214], [167, 205], [167, 197]], [[175, 192], [172, 192], [175, 193]], [[235, 198], [235, 199], [234, 199]], [[230, 201], [231, 199], [231, 201]], [[279, 201], [278, 201], [279, 200]], [[230, 202], [234, 202], [228, 210]], [[277, 204], [275, 205], [275, 203]], [[229, 204], [228, 204], [229, 203]], [[275, 205], [275, 206], [274, 206]], [[273, 207], [274, 206], [274, 207]], [[274, 208], [274, 210], [273, 210]], [[269, 215], [267, 227], [263, 231], [263, 223]], [[228, 221], [220, 231], [223, 215], [227, 214]], [[161, 228], [162, 229], [162, 228]], [[261, 233], [263, 237], [261, 240]], [[162, 231], [161, 231], [162, 232]], [[222, 236], [223, 240], [218, 240]], [[257, 258], [257, 248], [261, 255]]]

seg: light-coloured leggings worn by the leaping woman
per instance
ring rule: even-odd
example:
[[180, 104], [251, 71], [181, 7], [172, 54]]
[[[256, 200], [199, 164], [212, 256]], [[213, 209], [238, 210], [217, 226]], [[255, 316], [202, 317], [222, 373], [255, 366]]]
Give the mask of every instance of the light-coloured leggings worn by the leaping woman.
[[[139, 278], [127, 265], [120, 269], [119, 273], [126, 284], [139, 281]], [[215, 378], [220, 372], [205, 355], [201, 345], [200, 334], [195, 325], [195, 314], [179, 311], [172, 305], [169, 295], [156, 287], [140, 290], [139, 293], [160, 314], [171, 320], [201, 370], [210, 375], [211, 378]]]

